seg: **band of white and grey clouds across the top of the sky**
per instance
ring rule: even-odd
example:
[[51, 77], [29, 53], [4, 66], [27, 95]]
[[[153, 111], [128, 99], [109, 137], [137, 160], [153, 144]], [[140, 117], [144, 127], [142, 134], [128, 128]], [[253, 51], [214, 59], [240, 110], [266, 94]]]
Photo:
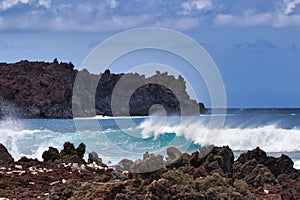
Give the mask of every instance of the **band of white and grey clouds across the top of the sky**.
[[180, 31], [202, 27], [300, 26], [300, 0], [3, 0], [0, 30], [120, 31], [159, 26]]

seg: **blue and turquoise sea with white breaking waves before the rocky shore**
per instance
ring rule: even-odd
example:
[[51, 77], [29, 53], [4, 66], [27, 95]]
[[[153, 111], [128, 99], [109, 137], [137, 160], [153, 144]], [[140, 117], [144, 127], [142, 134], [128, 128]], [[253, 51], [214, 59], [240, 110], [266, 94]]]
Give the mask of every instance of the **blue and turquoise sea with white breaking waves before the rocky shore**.
[[[222, 128], [211, 126], [224, 117]], [[210, 137], [213, 134], [213, 137]], [[0, 142], [17, 160], [42, 160], [49, 146], [66, 141], [87, 145], [105, 161], [141, 159], [148, 151], [165, 155], [169, 146], [193, 152], [201, 145], [229, 145], [237, 157], [259, 146], [269, 155], [290, 156], [300, 168], [300, 109], [228, 109], [225, 115], [197, 117], [95, 117], [81, 119], [7, 119], [0, 121]]]

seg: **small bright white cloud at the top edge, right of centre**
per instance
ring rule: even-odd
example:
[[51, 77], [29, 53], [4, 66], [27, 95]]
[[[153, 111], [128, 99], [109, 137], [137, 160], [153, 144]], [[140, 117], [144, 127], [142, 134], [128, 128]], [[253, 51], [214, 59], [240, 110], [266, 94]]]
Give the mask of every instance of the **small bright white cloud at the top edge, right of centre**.
[[181, 14], [189, 15], [193, 11], [205, 11], [213, 9], [213, 3], [211, 0], [190, 0], [181, 4], [183, 11]]

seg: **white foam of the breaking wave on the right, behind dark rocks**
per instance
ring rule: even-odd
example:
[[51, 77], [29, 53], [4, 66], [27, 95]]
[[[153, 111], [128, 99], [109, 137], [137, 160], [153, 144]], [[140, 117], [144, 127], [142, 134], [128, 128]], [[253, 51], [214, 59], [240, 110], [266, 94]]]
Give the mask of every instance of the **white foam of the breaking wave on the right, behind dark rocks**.
[[[300, 151], [300, 130], [282, 129], [276, 125], [249, 128], [223, 128], [211, 130], [198, 121], [186, 120], [183, 124], [170, 125], [160, 118], [145, 120], [140, 126], [143, 137], [163, 133], [184, 135], [200, 145], [229, 145], [233, 150], [250, 150], [256, 147], [267, 152]], [[211, 134], [215, 137], [210, 137]]]

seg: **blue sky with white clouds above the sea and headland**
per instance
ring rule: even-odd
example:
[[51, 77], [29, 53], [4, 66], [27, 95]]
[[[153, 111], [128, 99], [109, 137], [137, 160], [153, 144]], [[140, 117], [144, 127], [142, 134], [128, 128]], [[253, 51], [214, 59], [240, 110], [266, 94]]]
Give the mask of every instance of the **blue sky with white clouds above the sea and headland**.
[[[228, 107], [300, 107], [300, 0], [1, 0], [0, 62], [58, 58], [79, 69], [103, 40], [143, 27], [173, 29], [201, 44], [220, 71]], [[143, 52], [111, 68], [150, 62], [186, 64]], [[185, 70], [209, 107], [203, 81], [197, 85]]]

